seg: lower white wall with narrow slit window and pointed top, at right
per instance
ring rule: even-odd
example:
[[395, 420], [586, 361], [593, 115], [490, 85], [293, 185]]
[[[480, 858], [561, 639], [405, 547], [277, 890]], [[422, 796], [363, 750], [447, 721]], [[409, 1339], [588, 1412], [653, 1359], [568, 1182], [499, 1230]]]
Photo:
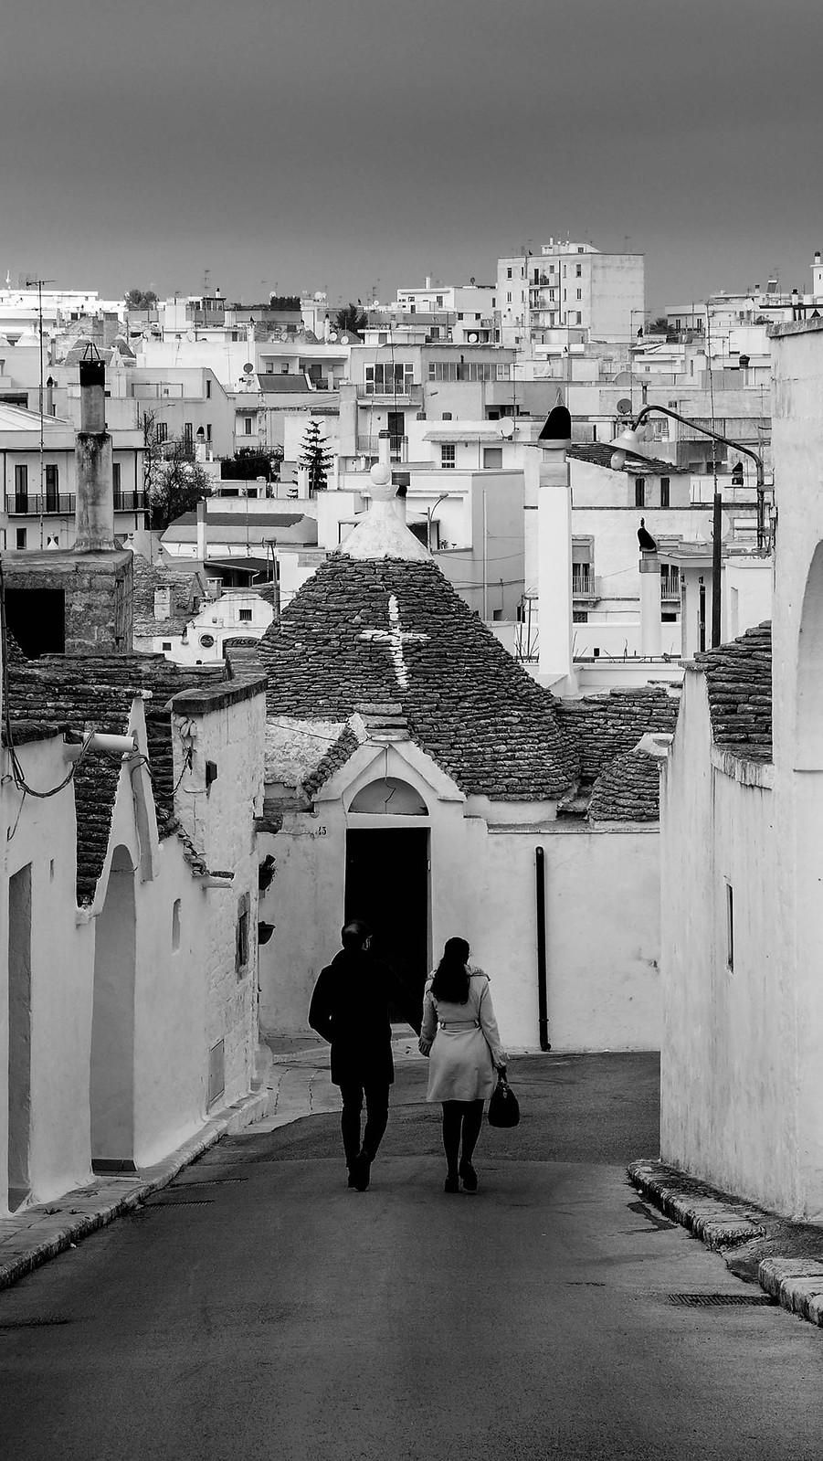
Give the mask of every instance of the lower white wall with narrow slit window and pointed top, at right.
[[689, 669], [661, 801], [662, 1156], [792, 1211], [794, 992], [773, 903], [772, 780], [770, 766], [713, 749], [705, 676]]

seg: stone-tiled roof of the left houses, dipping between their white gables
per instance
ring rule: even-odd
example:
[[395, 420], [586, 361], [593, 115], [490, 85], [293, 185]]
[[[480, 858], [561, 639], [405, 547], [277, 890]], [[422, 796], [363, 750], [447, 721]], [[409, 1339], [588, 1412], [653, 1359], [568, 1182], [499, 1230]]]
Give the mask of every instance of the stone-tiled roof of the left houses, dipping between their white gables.
[[[69, 726], [76, 732], [95, 729], [124, 735], [132, 701], [142, 690], [151, 691], [146, 729], [152, 790], [158, 827], [161, 836], [167, 836], [174, 809], [174, 771], [171, 714], [165, 706], [181, 690], [202, 685], [203, 679], [224, 678], [222, 665], [184, 668], [171, 665], [162, 655], [44, 655], [9, 665], [9, 707], [13, 717]], [[92, 901], [102, 871], [118, 776], [118, 757], [99, 754], [88, 754], [75, 774], [79, 903]]]

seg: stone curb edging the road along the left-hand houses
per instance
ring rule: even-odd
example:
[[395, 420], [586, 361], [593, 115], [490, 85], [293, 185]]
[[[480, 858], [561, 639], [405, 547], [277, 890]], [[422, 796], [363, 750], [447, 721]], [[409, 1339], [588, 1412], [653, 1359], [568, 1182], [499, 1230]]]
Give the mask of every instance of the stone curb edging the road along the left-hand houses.
[[[95, 1233], [98, 1229], [105, 1227], [113, 1223], [115, 1217], [121, 1217], [124, 1213], [132, 1213], [140, 1202], [145, 1202], [152, 1192], [159, 1192], [164, 1186], [168, 1186], [174, 1180], [183, 1167], [196, 1161], [202, 1157], [209, 1147], [213, 1147], [221, 1137], [237, 1135], [246, 1126], [253, 1125], [256, 1121], [262, 1121], [266, 1116], [269, 1106], [269, 1091], [254, 1091], [251, 1096], [246, 1096], [243, 1100], [235, 1102], [232, 1106], [227, 1106], [218, 1116], [212, 1116], [205, 1126], [189, 1141], [184, 1141], [177, 1151], [172, 1151], [170, 1157], [164, 1161], [158, 1161], [153, 1167], [146, 1167], [140, 1175], [136, 1175], [133, 1185], [126, 1188], [126, 1191], [111, 1186], [111, 1199], [102, 1199], [99, 1207], [94, 1211], [82, 1213], [76, 1216], [73, 1223], [66, 1223], [60, 1226], [57, 1232], [50, 1232], [48, 1237], [41, 1237], [37, 1240], [37, 1229], [32, 1233], [34, 1243], [25, 1252], [16, 1254], [7, 1262], [0, 1262], [0, 1290], [9, 1289], [10, 1284], [18, 1283], [26, 1274], [32, 1273], [34, 1268], [39, 1268], [50, 1258], [56, 1258], [57, 1254], [66, 1252], [67, 1248], [75, 1248], [83, 1237]], [[121, 1182], [123, 1179], [120, 1179]], [[107, 1183], [99, 1183], [105, 1188]], [[101, 1192], [102, 1197], [102, 1192]], [[70, 1207], [72, 1204], [79, 1204], [88, 1201], [88, 1189], [76, 1188], [73, 1192], [63, 1192], [60, 1198], [56, 1198], [60, 1205]], [[29, 1213], [35, 1213], [37, 1208], [29, 1208]], [[47, 1214], [44, 1213], [44, 1223]]]

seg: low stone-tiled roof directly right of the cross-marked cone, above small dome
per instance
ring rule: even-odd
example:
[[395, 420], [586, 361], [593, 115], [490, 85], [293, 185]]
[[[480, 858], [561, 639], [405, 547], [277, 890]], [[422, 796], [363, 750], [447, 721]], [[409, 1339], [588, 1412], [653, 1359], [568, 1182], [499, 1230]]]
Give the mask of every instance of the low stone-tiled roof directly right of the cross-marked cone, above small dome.
[[680, 697], [656, 685], [561, 700], [558, 717], [579, 751], [580, 782], [592, 786], [615, 757], [633, 751], [648, 730], [672, 733], [678, 704]]

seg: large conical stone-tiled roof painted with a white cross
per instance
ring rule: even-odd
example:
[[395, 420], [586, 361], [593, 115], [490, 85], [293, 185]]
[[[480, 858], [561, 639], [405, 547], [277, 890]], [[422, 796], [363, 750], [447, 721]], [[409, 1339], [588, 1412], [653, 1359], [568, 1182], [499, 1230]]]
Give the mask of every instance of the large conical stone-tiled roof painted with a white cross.
[[345, 722], [358, 704], [398, 703], [466, 793], [553, 799], [576, 780], [557, 701], [430, 560], [329, 558], [266, 630], [260, 659], [272, 716]]

